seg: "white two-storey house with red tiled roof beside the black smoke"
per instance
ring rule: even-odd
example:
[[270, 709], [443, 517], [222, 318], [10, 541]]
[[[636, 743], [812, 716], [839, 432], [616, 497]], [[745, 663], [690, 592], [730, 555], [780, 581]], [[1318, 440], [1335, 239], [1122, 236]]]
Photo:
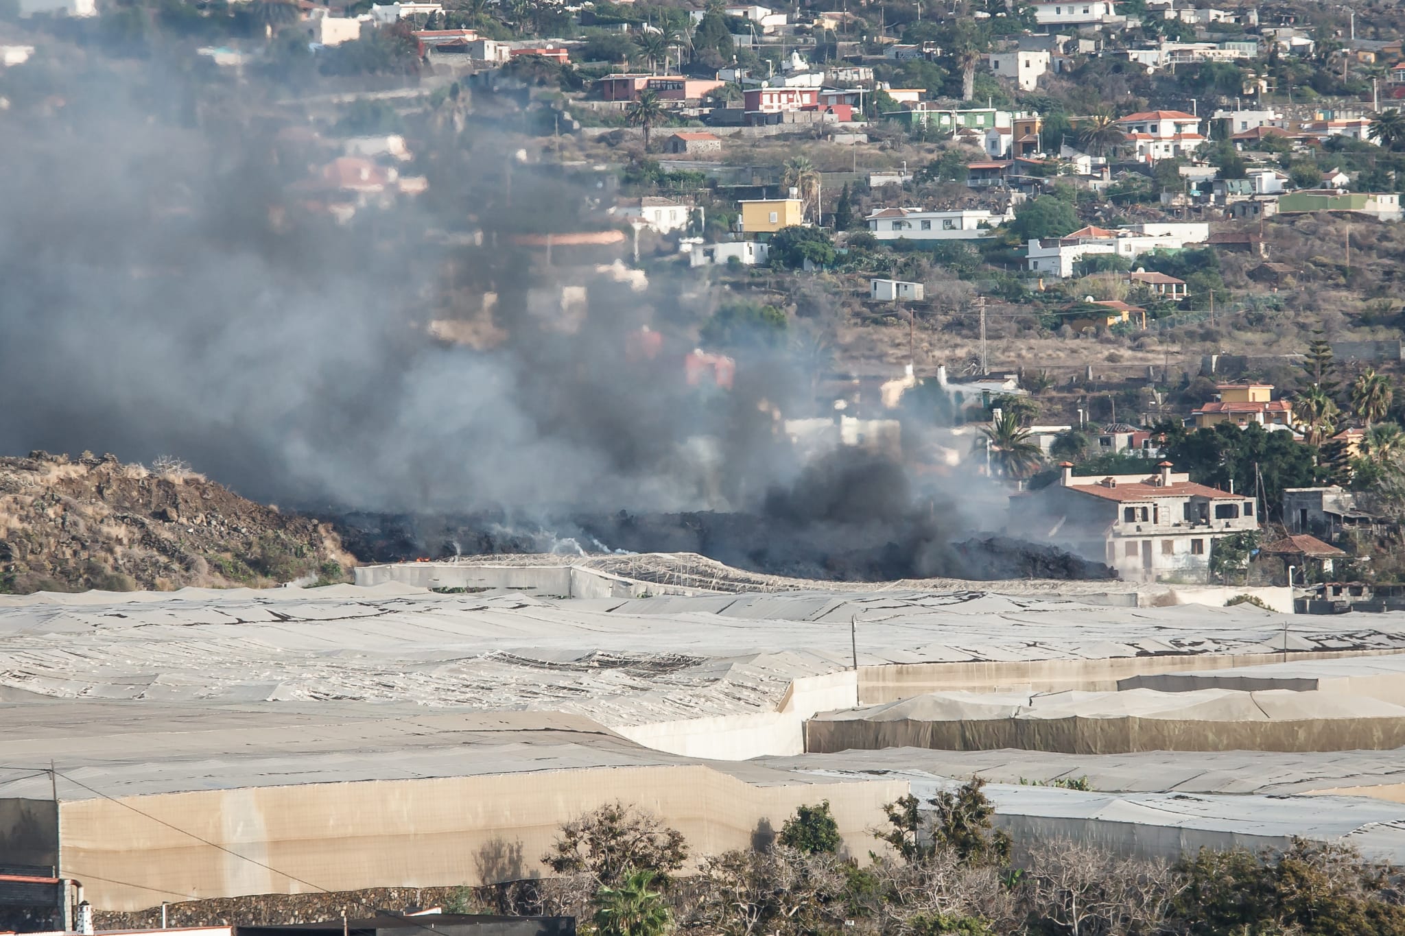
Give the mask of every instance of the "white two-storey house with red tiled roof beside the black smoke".
[[[1204, 580], [1215, 539], [1259, 529], [1252, 495], [1194, 484], [1189, 474], [1073, 474], [1010, 498], [1010, 533], [1104, 561], [1130, 581]], [[1013, 523], [1017, 523], [1014, 526]]]

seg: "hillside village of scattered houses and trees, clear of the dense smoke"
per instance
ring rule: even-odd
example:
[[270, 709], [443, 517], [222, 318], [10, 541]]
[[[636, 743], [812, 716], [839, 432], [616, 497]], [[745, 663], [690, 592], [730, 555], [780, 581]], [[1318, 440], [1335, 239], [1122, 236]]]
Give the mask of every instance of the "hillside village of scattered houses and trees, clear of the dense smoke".
[[[686, 352], [688, 385], [728, 390], [759, 348], [791, 355], [808, 400], [773, 415], [799, 449], [832, 436], [1017, 497], [1061, 462], [1154, 484], [1169, 459], [1384, 582], [1402, 27], [1293, 3], [18, 0], [0, 121], [76, 119], [94, 62], [181, 62], [197, 123], [232, 111], [266, 142], [274, 233], [395, 223], [462, 268], [507, 237], [542, 279], [521, 299], [538, 323], [579, 327], [592, 289], [662, 292], [674, 314], [636, 317], [632, 359]], [[471, 167], [503, 205], [475, 208]], [[542, 210], [548, 191], [565, 201]], [[499, 283], [437, 289], [414, 313], [434, 341], [510, 334]], [[1224, 427], [1253, 428], [1238, 462]], [[1284, 512], [1298, 488], [1368, 494], [1374, 533], [1307, 529]], [[1213, 551], [1120, 547], [1090, 546], [1151, 577], [1204, 575]]]

